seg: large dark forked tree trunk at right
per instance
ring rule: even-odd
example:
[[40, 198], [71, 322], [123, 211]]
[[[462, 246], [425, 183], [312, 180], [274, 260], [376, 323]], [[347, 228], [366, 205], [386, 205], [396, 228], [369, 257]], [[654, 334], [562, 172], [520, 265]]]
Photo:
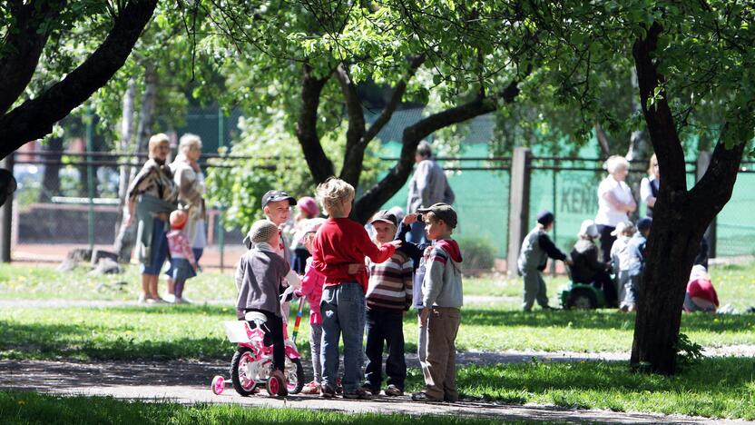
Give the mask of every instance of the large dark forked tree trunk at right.
[[[650, 371], [672, 374], [676, 368], [676, 342], [681, 323], [681, 305], [692, 262], [699, 250], [703, 232], [713, 217], [729, 201], [739, 172], [740, 160], [752, 130], [732, 148], [725, 147], [730, 124], [724, 124], [719, 143], [711, 157], [711, 165], [690, 191], [687, 190], [684, 153], [669, 107], [665, 90], [652, 98], [662, 87], [652, 56], [662, 35], [662, 26], [654, 23], [646, 38], [633, 46], [637, 68], [642, 113], [658, 157], [663, 178], [658, 200], [653, 209], [652, 232], [648, 240], [648, 259], [642, 273], [642, 285], [632, 341], [633, 365]], [[735, 116], [737, 124], [751, 124], [752, 111]]]

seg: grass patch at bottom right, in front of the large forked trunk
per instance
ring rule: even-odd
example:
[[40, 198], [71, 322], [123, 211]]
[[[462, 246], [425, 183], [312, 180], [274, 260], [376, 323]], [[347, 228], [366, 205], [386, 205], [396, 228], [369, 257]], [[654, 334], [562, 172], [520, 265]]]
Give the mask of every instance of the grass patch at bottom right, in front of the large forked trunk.
[[[417, 389], [422, 374], [412, 372]], [[625, 361], [467, 366], [456, 382], [466, 396], [512, 404], [755, 419], [755, 359], [704, 359], [673, 377], [636, 373]]]

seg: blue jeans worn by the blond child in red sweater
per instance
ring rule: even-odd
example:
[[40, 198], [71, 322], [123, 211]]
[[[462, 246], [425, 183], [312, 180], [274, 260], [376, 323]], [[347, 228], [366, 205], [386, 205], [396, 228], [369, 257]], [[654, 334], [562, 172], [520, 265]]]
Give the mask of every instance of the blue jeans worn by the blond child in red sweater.
[[343, 334], [343, 391], [356, 392], [362, 381], [365, 331], [365, 293], [358, 282], [326, 286], [322, 312], [322, 385], [336, 388], [338, 340]]

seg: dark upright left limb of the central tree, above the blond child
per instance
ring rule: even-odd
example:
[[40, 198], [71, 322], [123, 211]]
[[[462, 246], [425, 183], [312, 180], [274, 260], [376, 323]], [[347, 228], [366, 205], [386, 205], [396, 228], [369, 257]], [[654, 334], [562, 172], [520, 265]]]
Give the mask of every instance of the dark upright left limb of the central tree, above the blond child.
[[325, 84], [328, 83], [330, 74], [323, 78], [317, 78], [312, 74], [312, 67], [309, 64], [304, 64], [303, 71], [301, 109], [299, 109], [296, 136], [315, 183], [322, 183], [335, 174], [333, 163], [322, 150], [318, 134], [319, 96]]

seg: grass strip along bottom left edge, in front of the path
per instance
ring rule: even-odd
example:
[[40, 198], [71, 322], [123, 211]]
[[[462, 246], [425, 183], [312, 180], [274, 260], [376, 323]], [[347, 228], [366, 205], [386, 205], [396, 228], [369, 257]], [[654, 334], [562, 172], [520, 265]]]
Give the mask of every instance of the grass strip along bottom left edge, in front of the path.
[[[108, 397], [53, 396], [25, 391], [0, 391], [0, 422], [4, 424], [227, 424], [286, 423], [455, 425], [492, 424], [457, 416], [381, 415], [304, 409], [250, 408], [239, 405], [181, 405], [170, 402], [116, 400]], [[523, 422], [524, 423], [524, 422]]]

